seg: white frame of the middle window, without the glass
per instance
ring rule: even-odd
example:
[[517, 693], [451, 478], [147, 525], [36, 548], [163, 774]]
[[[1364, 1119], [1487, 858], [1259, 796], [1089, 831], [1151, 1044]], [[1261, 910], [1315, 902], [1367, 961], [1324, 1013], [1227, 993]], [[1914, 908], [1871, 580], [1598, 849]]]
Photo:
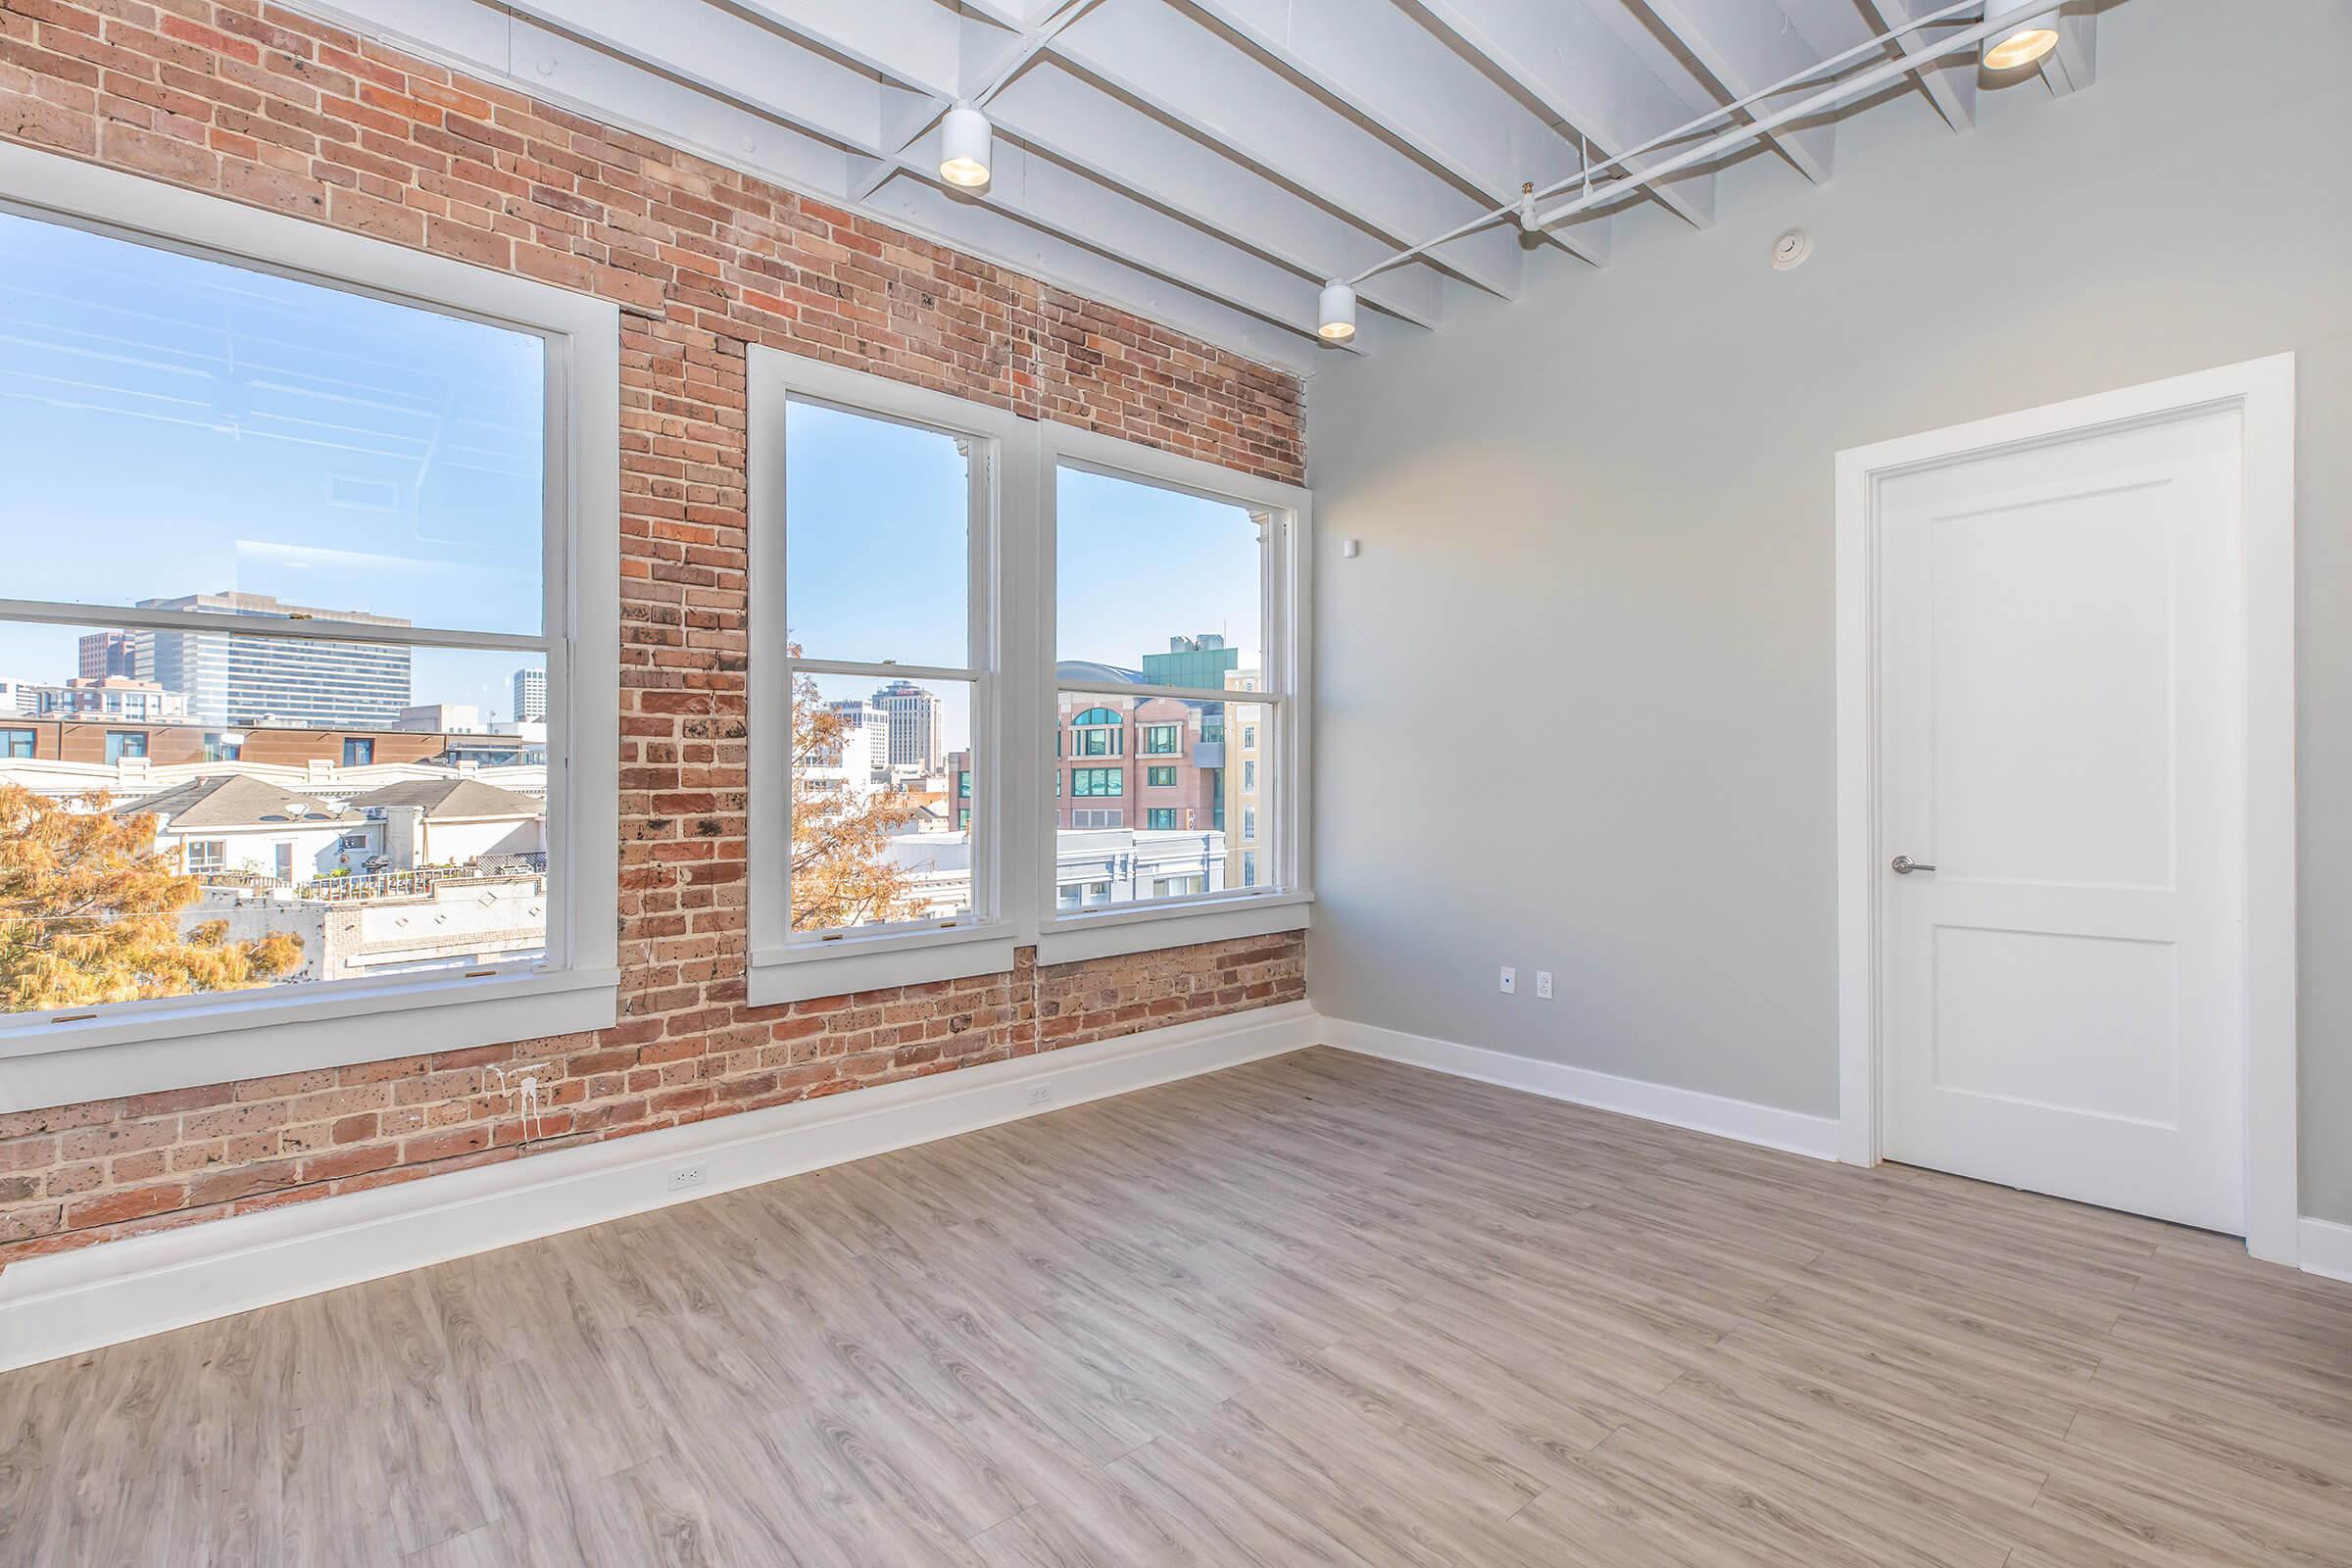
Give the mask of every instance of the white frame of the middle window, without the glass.
[[[971, 442], [967, 668], [793, 658], [786, 625], [786, 440], [793, 400], [957, 435]], [[755, 1006], [887, 985], [924, 985], [1014, 966], [1021, 924], [1011, 917], [1004, 867], [1016, 799], [1007, 773], [1004, 632], [1011, 621], [1004, 569], [1035, 480], [1035, 435], [1009, 409], [915, 388], [870, 371], [748, 350], [750, 470], [750, 973]], [[913, 919], [849, 931], [793, 931], [793, 679], [797, 675], [938, 679], [971, 686], [971, 910], [957, 919]]]

